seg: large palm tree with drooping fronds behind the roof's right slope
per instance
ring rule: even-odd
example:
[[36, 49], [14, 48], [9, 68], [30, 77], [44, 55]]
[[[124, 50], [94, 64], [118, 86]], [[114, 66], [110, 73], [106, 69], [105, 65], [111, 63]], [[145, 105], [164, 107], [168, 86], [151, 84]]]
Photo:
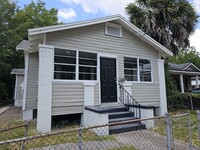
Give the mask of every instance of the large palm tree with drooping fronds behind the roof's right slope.
[[134, 25], [174, 54], [189, 46], [198, 19], [187, 0], [136, 0], [126, 11]]

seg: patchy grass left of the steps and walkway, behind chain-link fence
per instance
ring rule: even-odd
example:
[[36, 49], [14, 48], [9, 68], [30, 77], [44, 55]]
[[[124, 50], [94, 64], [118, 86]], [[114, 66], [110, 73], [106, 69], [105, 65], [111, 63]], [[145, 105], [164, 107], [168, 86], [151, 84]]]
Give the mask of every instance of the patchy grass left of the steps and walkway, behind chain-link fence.
[[[2, 121], [4, 123], [2, 123]], [[22, 120], [1, 120], [0, 119], [0, 129], [7, 129], [10, 127], [17, 126], [19, 124], [22, 124]], [[25, 142], [25, 149], [30, 149], [30, 148], [35, 148], [35, 147], [45, 147], [45, 146], [50, 146], [50, 145], [58, 145], [58, 144], [66, 144], [66, 143], [78, 143], [78, 134], [79, 134], [79, 125], [76, 123], [68, 124], [64, 128], [60, 129], [57, 126], [54, 127], [52, 132], [57, 132], [59, 131], [60, 133], [57, 135], [50, 135], [47, 137], [41, 137], [37, 139], [32, 139], [28, 140]], [[75, 130], [73, 130], [75, 129]], [[71, 131], [73, 130], [73, 131]], [[67, 133], [62, 133], [62, 131], [69, 131]], [[24, 137], [25, 133], [25, 128], [20, 127], [17, 129], [13, 129], [10, 131], [3, 132], [3, 134], [0, 134], [0, 141], [8, 140], [8, 139], [15, 139], [15, 138], [22, 138]], [[39, 132], [36, 131], [36, 121], [31, 121], [29, 122], [28, 125], [28, 136], [34, 136], [40, 134]], [[96, 133], [84, 129], [82, 130], [82, 142], [87, 142], [87, 141], [105, 141], [105, 140], [116, 140], [114, 135], [108, 135], [108, 136], [98, 136]], [[1, 148], [14, 148], [14, 149], [19, 149], [21, 147], [22, 142], [18, 143], [12, 143], [9, 145], [3, 145], [0, 146]]]

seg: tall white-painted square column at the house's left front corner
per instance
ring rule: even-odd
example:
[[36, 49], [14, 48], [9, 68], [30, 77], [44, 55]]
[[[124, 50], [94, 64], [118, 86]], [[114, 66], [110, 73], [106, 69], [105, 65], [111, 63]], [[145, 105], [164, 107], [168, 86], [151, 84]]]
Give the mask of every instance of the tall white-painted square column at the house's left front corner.
[[54, 47], [39, 45], [37, 130], [51, 130], [52, 81], [54, 71]]

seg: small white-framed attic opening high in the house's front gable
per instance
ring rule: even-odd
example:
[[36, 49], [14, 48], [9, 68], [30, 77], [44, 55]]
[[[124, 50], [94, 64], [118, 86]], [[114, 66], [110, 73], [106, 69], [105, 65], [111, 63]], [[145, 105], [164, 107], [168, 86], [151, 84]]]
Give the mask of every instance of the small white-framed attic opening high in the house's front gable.
[[118, 24], [106, 23], [105, 34], [122, 37], [122, 27]]

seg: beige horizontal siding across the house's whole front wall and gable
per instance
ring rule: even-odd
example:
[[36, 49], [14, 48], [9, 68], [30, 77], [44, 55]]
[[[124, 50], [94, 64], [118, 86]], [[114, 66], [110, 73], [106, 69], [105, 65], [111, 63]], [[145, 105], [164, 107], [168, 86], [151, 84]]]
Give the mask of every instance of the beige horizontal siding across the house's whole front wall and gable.
[[[124, 56], [151, 59], [153, 83], [133, 83], [133, 95], [142, 104], [147, 102], [159, 105], [159, 53], [125, 28], [122, 30], [122, 38], [105, 35], [104, 23], [52, 32], [47, 33], [46, 44], [64, 49], [117, 55], [118, 78], [124, 77]], [[99, 84], [95, 86], [95, 105], [99, 104]], [[53, 82], [52, 91], [52, 115], [83, 111], [83, 84]]]

